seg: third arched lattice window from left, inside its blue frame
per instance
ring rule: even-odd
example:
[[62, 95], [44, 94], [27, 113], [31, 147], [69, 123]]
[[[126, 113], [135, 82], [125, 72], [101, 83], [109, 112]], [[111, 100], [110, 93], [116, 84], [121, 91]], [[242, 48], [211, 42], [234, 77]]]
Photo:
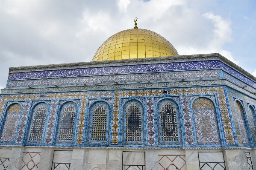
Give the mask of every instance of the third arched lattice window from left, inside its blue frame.
[[65, 104], [62, 108], [59, 121], [59, 141], [73, 140], [76, 111], [77, 109], [72, 103]]

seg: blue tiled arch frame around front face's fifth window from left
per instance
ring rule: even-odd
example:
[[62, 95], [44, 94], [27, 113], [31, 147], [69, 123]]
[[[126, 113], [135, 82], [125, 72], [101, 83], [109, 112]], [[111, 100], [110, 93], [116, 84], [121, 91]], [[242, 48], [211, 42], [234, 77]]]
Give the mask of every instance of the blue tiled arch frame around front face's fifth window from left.
[[[129, 106], [129, 104], [132, 104], [132, 103], [138, 104], [139, 107], [141, 108], [141, 141], [126, 141], [126, 133], [125, 133], [126, 132], [126, 123], [127, 123], [126, 109]], [[122, 120], [122, 123], [123, 123], [122, 136], [121, 136], [121, 139], [123, 141], [123, 145], [129, 145], [129, 144], [144, 145], [145, 144], [145, 134], [146, 134], [145, 130], [147, 130], [147, 129], [145, 127], [146, 124], [144, 124], [144, 122], [146, 121], [145, 120], [146, 116], [144, 116], [144, 115], [146, 115], [144, 108], [145, 108], [145, 105], [143, 104], [143, 102], [141, 100], [139, 100], [139, 98], [127, 99], [122, 104], [121, 110], [122, 110], [123, 114], [122, 114], [122, 117], [120, 119]]]

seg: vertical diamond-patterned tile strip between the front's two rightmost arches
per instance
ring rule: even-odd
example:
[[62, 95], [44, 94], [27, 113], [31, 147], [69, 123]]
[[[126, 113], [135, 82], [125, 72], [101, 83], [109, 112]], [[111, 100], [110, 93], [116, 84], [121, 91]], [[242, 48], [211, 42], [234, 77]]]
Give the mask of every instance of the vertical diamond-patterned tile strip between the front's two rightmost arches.
[[184, 125], [185, 125], [186, 144], [193, 145], [194, 137], [193, 137], [193, 128], [192, 128], [192, 120], [191, 120], [188, 96], [182, 96], [181, 102], [182, 102], [182, 111], [183, 111], [183, 118], [184, 118]]

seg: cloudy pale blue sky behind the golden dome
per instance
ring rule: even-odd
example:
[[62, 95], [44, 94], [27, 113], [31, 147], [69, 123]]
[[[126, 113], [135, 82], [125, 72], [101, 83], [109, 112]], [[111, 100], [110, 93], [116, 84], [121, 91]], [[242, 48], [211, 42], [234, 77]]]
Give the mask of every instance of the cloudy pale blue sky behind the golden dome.
[[9, 67], [91, 61], [135, 17], [179, 55], [220, 53], [256, 76], [255, 0], [0, 0], [0, 88]]

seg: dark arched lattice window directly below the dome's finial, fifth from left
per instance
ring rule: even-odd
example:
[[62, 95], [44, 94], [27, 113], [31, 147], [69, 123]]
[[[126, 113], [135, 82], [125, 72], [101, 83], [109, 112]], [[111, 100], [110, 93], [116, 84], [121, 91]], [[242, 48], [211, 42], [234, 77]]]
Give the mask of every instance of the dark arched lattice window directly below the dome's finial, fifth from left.
[[142, 141], [141, 111], [137, 103], [130, 103], [126, 107], [125, 140], [128, 142]]

